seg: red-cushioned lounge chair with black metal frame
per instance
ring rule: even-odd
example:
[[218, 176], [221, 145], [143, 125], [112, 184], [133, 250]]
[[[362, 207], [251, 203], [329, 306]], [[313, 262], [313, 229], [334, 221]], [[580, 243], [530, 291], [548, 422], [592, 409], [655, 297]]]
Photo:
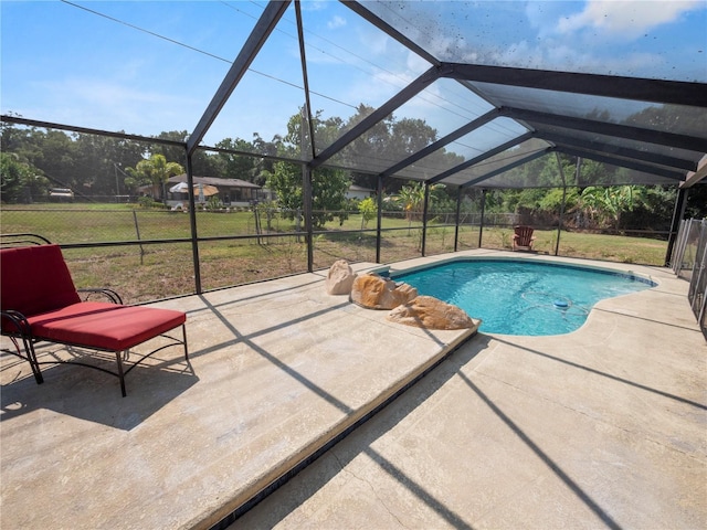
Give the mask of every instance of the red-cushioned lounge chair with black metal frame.
[[[186, 314], [146, 306], [126, 306], [110, 289], [76, 289], [57, 245], [42, 244], [0, 250], [0, 330], [10, 337], [17, 351], [3, 350], [27, 360], [38, 384], [44, 379], [41, 364], [65, 362], [94, 368], [120, 380], [125, 398], [125, 375], [144, 359], [168, 348], [182, 344], [187, 349]], [[81, 296], [84, 296], [84, 299]], [[89, 301], [86, 296], [99, 295], [108, 301]], [[167, 336], [181, 326], [182, 338]], [[139, 354], [127, 370], [129, 350], [156, 337], [167, 337], [169, 343], [147, 354]], [[115, 353], [117, 370], [77, 360], [39, 361], [34, 344], [55, 342]], [[20, 342], [24, 349], [22, 353]]]

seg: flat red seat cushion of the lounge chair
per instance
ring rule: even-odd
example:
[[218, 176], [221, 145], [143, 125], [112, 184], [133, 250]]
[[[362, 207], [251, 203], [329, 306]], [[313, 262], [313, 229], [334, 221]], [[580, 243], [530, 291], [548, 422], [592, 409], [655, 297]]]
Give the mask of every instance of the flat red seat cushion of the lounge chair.
[[38, 338], [122, 351], [184, 324], [187, 316], [171, 309], [82, 301], [28, 320]]

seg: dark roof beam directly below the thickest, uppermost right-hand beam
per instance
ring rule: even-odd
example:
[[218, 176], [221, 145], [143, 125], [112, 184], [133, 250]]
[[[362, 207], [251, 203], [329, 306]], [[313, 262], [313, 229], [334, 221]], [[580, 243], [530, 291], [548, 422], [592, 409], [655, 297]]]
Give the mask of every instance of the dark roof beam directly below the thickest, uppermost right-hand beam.
[[[675, 132], [644, 129], [642, 127], [634, 127], [631, 125], [619, 125], [587, 118], [574, 118], [571, 116], [539, 113], [537, 110], [527, 110], [514, 107], [502, 107], [500, 112], [504, 116], [526, 121], [528, 124], [546, 124], [568, 129], [583, 130], [599, 135], [675, 147], [677, 149], [686, 149], [689, 151], [707, 152], [707, 138], [699, 138], [696, 136], [677, 135]], [[538, 127], [530, 128], [538, 129]]]

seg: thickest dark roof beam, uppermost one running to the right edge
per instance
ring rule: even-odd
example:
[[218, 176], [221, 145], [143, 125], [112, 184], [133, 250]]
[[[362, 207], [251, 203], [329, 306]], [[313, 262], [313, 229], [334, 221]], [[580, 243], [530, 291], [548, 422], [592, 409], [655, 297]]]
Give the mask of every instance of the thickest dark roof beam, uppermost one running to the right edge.
[[443, 77], [553, 92], [707, 107], [707, 85], [619, 75], [443, 63]]

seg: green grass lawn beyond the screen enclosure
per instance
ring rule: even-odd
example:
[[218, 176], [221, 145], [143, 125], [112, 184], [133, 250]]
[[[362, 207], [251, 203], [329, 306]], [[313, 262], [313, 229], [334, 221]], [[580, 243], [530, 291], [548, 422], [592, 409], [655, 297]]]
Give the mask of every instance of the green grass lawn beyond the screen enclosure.
[[[307, 269], [304, 237], [293, 235], [295, 222], [264, 216], [261, 226], [275, 237], [200, 242], [199, 262], [203, 289], [214, 289], [249, 282], [265, 280]], [[314, 239], [314, 267], [328, 268], [336, 259], [376, 261], [376, 222], [367, 232], [360, 230], [361, 218], [350, 214], [339, 225], [329, 223]], [[35, 233], [54, 243], [138, 242], [190, 237], [190, 218], [184, 213], [144, 210], [131, 204], [42, 204], [3, 205], [0, 210], [2, 233]], [[256, 235], [253, 212], [198, 212], [200, 237]], [[420, 223], [409, 225], [404, 219], [384, 218], [381, 263], [420, 255]], [[425, 239], [426, 255], [454, 250], [454, 226], [430, 224]], [[482, 246], [510, 248], [513, 230], [484, 227]], [[536, 230], [534, 250], [555, 254], [557, 231]], [[460, 227], [458, 248], [478, 246], [478, 226]], [[559, 255], [662, 266], [667, 243], [659, 240], [618, 235], [562, 232]], [[194, 292], [193, 253], [190, 243], [120, 245], [112, 247], [66, 248], [64, 255], [78, 287], [112, 287], [125, 301], [137, 303]]]

